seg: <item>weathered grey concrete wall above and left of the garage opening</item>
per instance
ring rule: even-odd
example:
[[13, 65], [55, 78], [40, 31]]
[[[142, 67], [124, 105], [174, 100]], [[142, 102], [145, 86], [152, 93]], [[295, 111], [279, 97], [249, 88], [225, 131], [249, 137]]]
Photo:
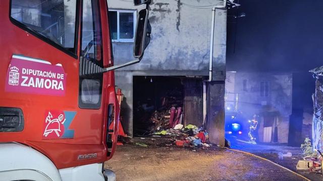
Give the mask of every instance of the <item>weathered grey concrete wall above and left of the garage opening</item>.
[[[110, 9], [138, 10], [132, 1], [107, 0]], [[195, 6], [187, 6], [186, 4]], [[214, 0], [153, 0], [149, 7], [152, 33], [140, 63], [115, 71], [116, 85], [123, 90], [126, 103], [122, 105], [125, 132], [132, 135], [132, 77], [207, 76], [212, 5]], [[209, 6], [210, 5], [210, 6]], [[197, 7], [200, 6], [200, 7]], [[202, 6], [202, 7], [201, 7]], [[205, 7], [209, 6], [209, 7]], [[227, 11], [217, 10], [214, 26], [214, 78], [225, 79]], [[133, 60], [133, 43], [113, 43], [115, 64]], [[207, 77], [206, 77], [207, 78]]]

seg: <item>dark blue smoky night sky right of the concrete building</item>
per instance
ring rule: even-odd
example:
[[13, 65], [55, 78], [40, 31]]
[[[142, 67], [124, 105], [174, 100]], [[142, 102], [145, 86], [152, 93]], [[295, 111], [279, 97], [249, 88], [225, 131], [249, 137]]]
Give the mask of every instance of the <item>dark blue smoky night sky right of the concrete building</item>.
[[[228, 70], [307, 72], [323, 65], [323, 1], [239, 4], [228, 12]], [[246, 16], [233, 17], [240, 13]]]

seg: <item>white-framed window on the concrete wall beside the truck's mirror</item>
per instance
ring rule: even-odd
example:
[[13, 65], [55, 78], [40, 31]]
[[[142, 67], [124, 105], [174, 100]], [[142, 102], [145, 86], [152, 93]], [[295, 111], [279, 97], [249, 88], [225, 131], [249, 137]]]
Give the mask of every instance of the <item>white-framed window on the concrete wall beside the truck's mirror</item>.
[[136, 11], [109, 10], [109, 28], [112, 41], [133, 42], [136, 29]]

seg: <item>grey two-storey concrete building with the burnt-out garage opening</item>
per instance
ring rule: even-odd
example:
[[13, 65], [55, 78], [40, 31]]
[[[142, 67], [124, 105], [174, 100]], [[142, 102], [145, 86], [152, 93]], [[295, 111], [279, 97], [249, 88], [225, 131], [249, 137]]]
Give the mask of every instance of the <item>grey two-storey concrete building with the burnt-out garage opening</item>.
[[[111, 27], [114, 60], [116, 64], [124, 63], [133, 59], [136, 17], [144, 6], [134, 9], [131, 1], [108, 2], [109, 19], [116, 25]], [[224, 3], [151, 2], [152, 33], [143, 59], [115, 71], [116, 85], [124, 94], [122, 125], [129, 136], [167, 126], [167, 121], [156, 123], [153, 119], [169, 119], [170, 110], [175, 109], [177, 113], [181, 110], [179, 120], [175, 121], [197, 126], [207, 122], [210, 141], [224, 145], [227, 38]], [[218, 8], [212, 11], [214, 6]]]

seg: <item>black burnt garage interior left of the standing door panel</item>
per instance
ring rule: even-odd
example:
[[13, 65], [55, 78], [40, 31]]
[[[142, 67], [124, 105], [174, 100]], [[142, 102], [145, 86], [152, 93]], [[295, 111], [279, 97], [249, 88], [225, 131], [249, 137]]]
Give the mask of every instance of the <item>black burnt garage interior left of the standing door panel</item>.
[[[175, 107], [176, 110], [180, 107], [184, 112], [183, 106], [184, 86], [180, 77], [133, 77], [133, 133], [135, 136], [147, 135], [157, 130], [159, 126], [159, 129], [167, 127], [165, 119], [169, 117], [171, 107]], [[157, 123], [158, 120], [161, 120], [160, 123]]]

